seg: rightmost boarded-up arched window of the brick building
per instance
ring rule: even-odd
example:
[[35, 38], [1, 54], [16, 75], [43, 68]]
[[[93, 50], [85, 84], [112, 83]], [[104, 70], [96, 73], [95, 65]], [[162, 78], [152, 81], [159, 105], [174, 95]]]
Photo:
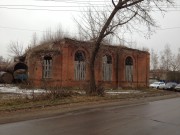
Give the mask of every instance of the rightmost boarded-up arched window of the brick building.
[[127, 57], [126, 61], [126, 81], [132, 82], [133, 81], [133, 59], [131, 57]]

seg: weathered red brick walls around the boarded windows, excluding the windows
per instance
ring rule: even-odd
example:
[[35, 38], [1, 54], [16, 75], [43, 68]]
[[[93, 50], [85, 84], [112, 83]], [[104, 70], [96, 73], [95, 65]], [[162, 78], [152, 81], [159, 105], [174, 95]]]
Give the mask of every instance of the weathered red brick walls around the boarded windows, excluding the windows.
[[[60, 48], [58, 55], [52, 56], [53, 68], [52, 78], [42, 78], [42, 57], [31, 55], [27, 59], [29, 69], [29, 80], [36, 87], [83, 87], [89, 81], [88, 60], [90, 58], [90, 47], [64, 44], [56, 44]], [[107, 48], [108, 47], [108, 48]], [[74, 55], [77, 50], [85, 52], [86, 80], [75, 81], [74, 79]], [[112, 81], [102, 81], [102, 57], [105, 54], [112, 57]], [[45, 55], [45, 54], [44, 54]], [[133, 82], [125, 80], [125, 59], [130, 56], [133, 59]], [[104, 46], [99, 52], [95, 62], [95, 76], [97, 83], [102, 83], [107, 88], [117, 87], [145, 87], [148, 86], [149, 78], [149, 53], [118, 47]]]

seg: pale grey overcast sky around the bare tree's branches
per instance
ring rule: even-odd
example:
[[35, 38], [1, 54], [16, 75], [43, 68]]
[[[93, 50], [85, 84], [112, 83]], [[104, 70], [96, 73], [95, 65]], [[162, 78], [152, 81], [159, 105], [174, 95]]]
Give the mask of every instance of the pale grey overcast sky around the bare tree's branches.
[[[38, 37], [47, 30], [55, 31], [60, 25], [63, 30], [77, 34], [73, 18], [81, 14], [85, 1], [91, 0], [1, 0], [0, 1], [0, 56], [7, 57], [8, 44], [18, 41], [24, 47], [30, 43], [33, 33]], [[101, 6], [100, 0], [92, 0]], [[106, 0], [107, 1], [107, 0]], [[111, 2], [111, 0], [109, 0]], [[85, 6], [86, 7], [86, 6]], [[136, 42], [137, 47], [147, 47], [157, 52], [169, 44], [174, 53], [180, 48], [180, 1], [176, 0], [175, 8], [167, 9], [165, 16], [154, 13], [158, 25], [150, 39], [136, 33], [127, 35], [126, 40]]]

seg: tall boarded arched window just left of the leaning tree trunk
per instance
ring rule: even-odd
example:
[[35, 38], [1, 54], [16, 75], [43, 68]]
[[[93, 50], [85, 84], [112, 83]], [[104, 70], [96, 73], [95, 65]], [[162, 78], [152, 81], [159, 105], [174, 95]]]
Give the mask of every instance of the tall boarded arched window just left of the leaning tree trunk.
[[86, 78], [86, 62], [85, 53], [77, 51], [74, 59], [74, 76], [75, 80], [85, 80]]

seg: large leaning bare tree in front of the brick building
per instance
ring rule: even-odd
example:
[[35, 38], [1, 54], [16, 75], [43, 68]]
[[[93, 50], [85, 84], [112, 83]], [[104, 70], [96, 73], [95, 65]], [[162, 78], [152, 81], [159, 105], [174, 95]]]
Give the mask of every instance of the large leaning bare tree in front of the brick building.
[[[97, 94], [95, 81], [95, 59], [99, 52], [103, 40], [110, 35], [117, 35], [125, 28], [126, 30], [136, 29], [136, 24], [147, 26], [149, 33], [156, 27], [156, 22], [151, 16], [154, 7], [163, 11], [162, 5], [173, 4], [173, 0], [112, 0], [112, 6], [106, 8], [103, 12], [96, 9], [89, 10], [83, 17], [83, 22], [79, 23], [81, 31], [85, 38], [94, 41], [94, 47], [91, 52], [89, 69], [90, 83], [88, 94]], [[107, 12], [108, 11], [108, 12]]]

